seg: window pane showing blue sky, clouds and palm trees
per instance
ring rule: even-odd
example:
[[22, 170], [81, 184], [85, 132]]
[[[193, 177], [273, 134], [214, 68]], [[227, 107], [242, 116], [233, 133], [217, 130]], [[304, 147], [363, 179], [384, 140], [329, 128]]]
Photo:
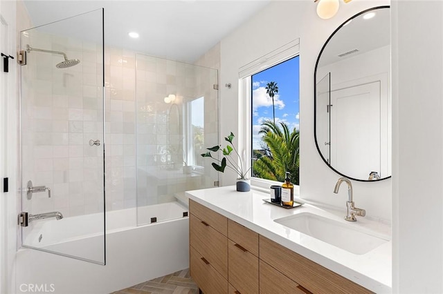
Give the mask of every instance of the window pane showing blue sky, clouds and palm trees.
[[298, 185], [299, 57], [251, 76], [252, 176]]

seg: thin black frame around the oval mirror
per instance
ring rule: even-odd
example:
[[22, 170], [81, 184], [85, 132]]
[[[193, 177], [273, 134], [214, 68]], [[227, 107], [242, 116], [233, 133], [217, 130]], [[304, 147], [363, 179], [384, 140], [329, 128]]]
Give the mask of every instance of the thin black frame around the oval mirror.
[[332, 37], [334, 37], [334, 35], [336, 34], [336, 32], [338, 32], [338, 30], [340, 30], [343, 26], [345, 26], [345, 23], [347, 23], [348, 21], [350, 21], [351, 19], [354, 19], [356, 17], [358, 17], [361, 14], [364, 14], [368, 11], [371, 10], [377, 10], [377, 9], [383, 9], [383, 8], [390, 8], [390, 6], [377, 6], [377, 7], [373, 7], [373, 8], [369, 8], [366, 10], [363, 10], [362, 12], [359, 12], [357, 14], [355, 14], [354, 16], [350, 17], [349, 19], [347, 19], [346, 21], [344, 21], [340, 26], [338, 26], [338, 28], [336, 28], [336, 30], [334, 30], [334, 32], [332, 32], [332, 34], [329, 36], [329, 38], [327, 38], [325, 44], [323, 45], [323, 47], [321, 48], [320, 52], [318, 53], [318, 57], [317, 57], [317, 61], [316, 61], [316, 67], [314, 69], [314, 141], [316, 143], [316, 148], [318, 151], [318, 154], [320, 155], [321, 159], [323, 159], [323, 161], [325, 162], [325, 164], [331, 168], [332, 170], [334, 170], [335, 173], [338, 173], [338, 175], [341, 175], [342, 177], [347, 177], [348, 179], [352, 179], [354, 181], [358, 181], [358, 182], [379, 182], [379, 181], [383, 181], [383, 179], [389, 179], [392, 176], [389, 177], [383, 177], [382, 179], [375, 179], [375, 180], [369, 180], [369, 179], [356, 179], [354, 177], [350, 177], [348, 175], [344, 175], [343, 173], [340, 173], [338, 170], [336, 170], [335, 168], [333, 168], [325, 159], [325, 157], [323, 157], [323, 154], [321, 154], [320, 152], [320, 148], [318, 147], [318, 142], [317, 142], [317, 67], [318, 67], [318, 61], [320, 61], [320, 57], [321, 54], [323, 53], [323, 50], [325, 50], [327, 43], [329, 43], [329, 41], [332, 39]]

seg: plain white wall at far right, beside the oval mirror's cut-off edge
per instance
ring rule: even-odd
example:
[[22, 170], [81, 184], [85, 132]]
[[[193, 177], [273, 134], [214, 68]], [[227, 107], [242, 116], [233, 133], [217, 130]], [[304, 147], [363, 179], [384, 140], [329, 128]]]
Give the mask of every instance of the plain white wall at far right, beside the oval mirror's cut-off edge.
[[394, 293], [443, 293], [443, 2], [392, 2]]

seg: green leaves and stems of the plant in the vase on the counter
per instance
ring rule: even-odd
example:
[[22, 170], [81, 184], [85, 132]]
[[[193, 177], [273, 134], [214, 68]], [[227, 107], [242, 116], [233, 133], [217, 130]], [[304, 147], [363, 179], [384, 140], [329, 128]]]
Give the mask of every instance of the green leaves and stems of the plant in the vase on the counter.
[[[219, 171], [220, 173], [224, 173], [224, 170], [227, 167], [227, 168], [230, 168], [230, 170], [235, 171], [235, 173], [237, 173], [237, 175], [239, 176], [239, 179], [246, 179], [246, 174], [248, 173], [249, 169], [251, 169], [251, 168], [246, 170], [246, 172], [244, 171], [242, 158], [238, 154], [238, 152], [235, 149], [235, 146], [233, 144], [234, 138], [235, 138], [235, 136], [231, 132], [228, 137], [224, 138], [226, 141], [229, 142], [229, 144], [226, 145], [226, 148], [221, 148], [221, 146], [219, 146], [219, 145], [211, 147], [211, 148], [207, 148], [209, 151], [202, 154], [201, 157], [211, 157], [215, 161], [219, 162], [219, 164], [216, 164], [215, 162], [213, 162], [212, 165], [215, 168], [215, 170]], [[226, 157], [223, 157], [221, 160], [219, 160], [211, 155], [211, 152], [216, 153], [218, 151], [221, 151], [221, 153], [223, 153], [223, 155]], [[234, 151], [234, 153], [233, 153], [233, 151]], [[233, 158], [233, 157], [235, 157], [235, 158]], [[239, 164], [237, 164], [235, 162], [235, 160], [238, 160]]]

